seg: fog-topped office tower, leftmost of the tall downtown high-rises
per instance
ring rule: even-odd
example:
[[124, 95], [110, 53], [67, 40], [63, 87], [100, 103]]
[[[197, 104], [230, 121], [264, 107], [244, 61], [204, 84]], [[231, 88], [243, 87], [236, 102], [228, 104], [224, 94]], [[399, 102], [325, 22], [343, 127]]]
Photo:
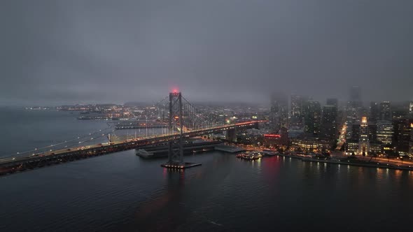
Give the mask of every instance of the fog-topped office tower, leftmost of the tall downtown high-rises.
[[283, 127], [288, 128], [288, 99], [284, 94], [272, 94], [269, 121], [274, 133], [279, 133]]

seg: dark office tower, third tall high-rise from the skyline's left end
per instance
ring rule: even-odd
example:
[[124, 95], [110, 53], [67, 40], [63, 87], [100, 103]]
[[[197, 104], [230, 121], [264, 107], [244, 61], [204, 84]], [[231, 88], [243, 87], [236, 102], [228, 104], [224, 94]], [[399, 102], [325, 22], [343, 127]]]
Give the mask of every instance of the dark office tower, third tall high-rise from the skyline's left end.
[[320, 103], [318, 101], [307, 101], [304, 112], [304, 131], [318, 135], [321, 123]]

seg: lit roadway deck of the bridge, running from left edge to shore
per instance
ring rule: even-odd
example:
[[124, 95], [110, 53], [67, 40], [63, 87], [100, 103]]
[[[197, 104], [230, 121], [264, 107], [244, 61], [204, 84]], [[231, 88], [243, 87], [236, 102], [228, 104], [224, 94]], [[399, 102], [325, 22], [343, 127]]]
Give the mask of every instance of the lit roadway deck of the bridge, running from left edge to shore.
[[[265, 120], [257, 120], [251, 122], [240, 122], [237, 124], [228, 124], [224, 126], [215, 126], [208, 129], [198, 129], [195, 131], [186, 131], [183, 133], [183, 138], [190, 138], [195, 136], [203, 136], [209, 133], [216, 133], [220, 131], [227, 131], [236, 128], [253, 128], [258, 126], [260, 122], [267, 122]], [[90, 145], [87, 147], [72, 147], [61, 150], [53, 150], [50, 152], [43, 152], [27, 157], [14, 157], [0, 159], [0, 175], [7, 173], [15, 173], [17, 171], [25, 171], [27, 169], [39, 168], [43, 166], [50, 166], [52, 164], [60, 164], [76, 159], [85, 159], [88, 157], [95, 157], [102, 154], [109, 154], [113, 152], [120, 152], [125, 150], [132, 150], [146, 145], [156, 145], [159, 143], [167, 143], [169, 141], [178, 140], [180, 134], [162, 134], [158, 136], [151, 136], [148, 138], [130, 139], [125, 141], [102, 143], [97, 145]]]

